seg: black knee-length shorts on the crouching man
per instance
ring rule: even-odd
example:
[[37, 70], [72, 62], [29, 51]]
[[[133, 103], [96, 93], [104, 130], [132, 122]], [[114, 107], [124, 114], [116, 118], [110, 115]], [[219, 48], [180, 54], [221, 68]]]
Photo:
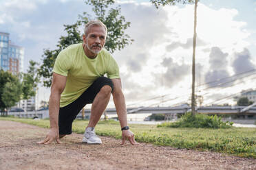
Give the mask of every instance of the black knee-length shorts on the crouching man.
[[111, 86], [112, 90], [114, 85], [107, 77], [98, 77], [94, 83], [85, 90], [85, 92], [78, 97], [71, 104], [60, 108], [58, 112], [58, 132], [59, 134], [72, 134], [72, 123], [76, 119], [76, 115], [82, 110], [86, 104], [92, 104], [94, 98], [105, 85]]

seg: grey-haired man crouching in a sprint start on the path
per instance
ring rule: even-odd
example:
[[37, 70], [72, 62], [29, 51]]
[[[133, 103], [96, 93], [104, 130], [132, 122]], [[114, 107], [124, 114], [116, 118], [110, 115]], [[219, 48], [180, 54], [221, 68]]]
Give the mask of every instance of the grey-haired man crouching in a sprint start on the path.
[[[49, 100], [50, 130], [40, 144], [61, 143], [59, 138], [72, 133], [72, 122], [86, 104], [92, 104], [92, 110], [83, 142], [102, 143], [94, 127], [112, 93], [122, 130], [122, 144], [128, 139], [132, 145], [138, 145], [127, 126], [118, 65], [103, 49], [106, 36], [107, 27], [101, 21], [89, 21], [85, 25], [83, 44], [70, 45], [58, 54]], [[105, 73], [108, 78], [103, 77]]]

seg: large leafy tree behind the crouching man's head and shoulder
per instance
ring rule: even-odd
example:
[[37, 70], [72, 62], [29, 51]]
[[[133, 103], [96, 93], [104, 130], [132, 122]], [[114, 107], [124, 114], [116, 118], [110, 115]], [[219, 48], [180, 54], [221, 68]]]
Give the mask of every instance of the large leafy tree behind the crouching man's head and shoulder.
[[83, 12], [83, 15], [78, 16], [78, 21], [73, 25], [64, 25], [67, 36], [61, 36], [58, 41], [57, 49], [45, 49], [43, 51], [43, 64], [40, 66], [39, 75], [43, 77], [43, 86], [50, 87], [52, 84], [52, 69], [58, 53], [68, 47], [69, 45], [82, 42], [82, 34], [79, 31], [81, 25], [85, 25], [92, 19], [98, 19], [107, 26], [107, 40], [105, 49], [113, 53], [117, 49], [123, 49], [129, 45], [133, 40], [129, 35], [125, 34], [131, 23], [125, 21], [125, 17], [120, 15], [120, 6], [116, 8], [109, 8], [114, 4], [114, 0], [87, 0], [88, 5], [92, 6], [94, 17]]

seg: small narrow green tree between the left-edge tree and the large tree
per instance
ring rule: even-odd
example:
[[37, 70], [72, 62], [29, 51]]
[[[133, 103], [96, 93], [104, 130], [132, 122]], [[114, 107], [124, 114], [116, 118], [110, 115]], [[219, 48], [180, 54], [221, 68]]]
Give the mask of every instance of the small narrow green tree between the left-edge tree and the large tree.
[[36, 87], [39, 83], [39, 75], [37, 74], [36, 65], [37, 62], [30, 60], [30, 66], [28, 68], [28, 73], [23, 73], [22, 81], [22, 98], [30, 99], [30, 97], [36, 95]]

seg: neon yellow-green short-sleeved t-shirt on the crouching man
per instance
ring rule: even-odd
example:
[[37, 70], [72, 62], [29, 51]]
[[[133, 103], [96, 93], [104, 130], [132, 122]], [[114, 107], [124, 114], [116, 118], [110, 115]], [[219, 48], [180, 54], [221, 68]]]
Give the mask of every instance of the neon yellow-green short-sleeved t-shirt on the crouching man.
[[61, 51], [56, 58], [53, 71], [67, 76], [66, 86], [61, 94], [61, 108], [78, 99], [105, 73], [110, 79], [120, 77], [118, 64], [107, 50], [101, 50], [94, 59], [88, 58], [83, 51], [82, 43], [70, 45]]

